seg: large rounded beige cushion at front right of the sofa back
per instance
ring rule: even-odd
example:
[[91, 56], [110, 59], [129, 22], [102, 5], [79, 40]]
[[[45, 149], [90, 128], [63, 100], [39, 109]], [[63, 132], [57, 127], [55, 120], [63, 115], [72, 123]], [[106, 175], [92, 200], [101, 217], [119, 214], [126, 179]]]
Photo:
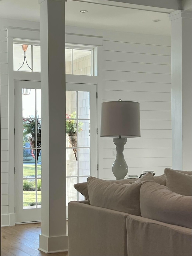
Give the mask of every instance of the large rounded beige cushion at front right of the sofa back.
[[140, 189], [141, 216], [192, 228], [192, 196], [183, 196], [156, 182], [143, 182]]

